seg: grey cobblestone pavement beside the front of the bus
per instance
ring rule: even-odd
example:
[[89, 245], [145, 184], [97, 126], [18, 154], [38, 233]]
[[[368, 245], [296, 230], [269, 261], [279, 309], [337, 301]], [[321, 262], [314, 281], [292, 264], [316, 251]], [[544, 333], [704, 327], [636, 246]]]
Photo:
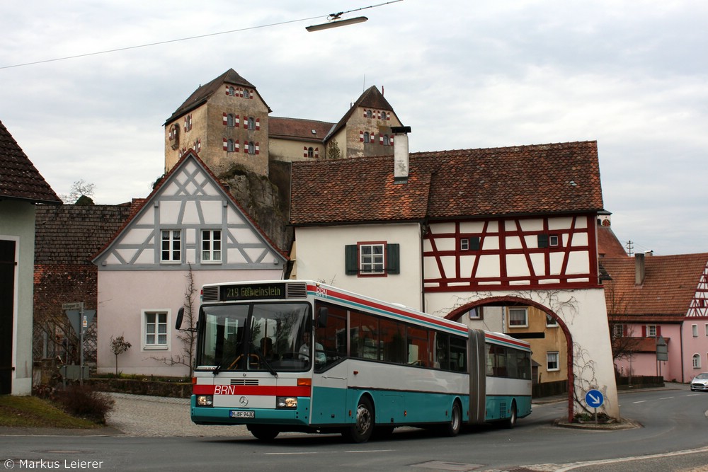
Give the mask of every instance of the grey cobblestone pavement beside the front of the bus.
[[189, 400], [108, 393], [115, 407], [106, 424], [129, 436], [250, 436], [245, 426], [200, 426], [189, 418]]

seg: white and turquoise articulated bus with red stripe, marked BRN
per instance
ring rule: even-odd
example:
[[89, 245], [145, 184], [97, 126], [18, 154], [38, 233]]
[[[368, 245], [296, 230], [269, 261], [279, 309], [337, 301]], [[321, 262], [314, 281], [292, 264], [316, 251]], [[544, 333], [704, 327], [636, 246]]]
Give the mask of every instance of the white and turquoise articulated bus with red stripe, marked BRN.
[[207, 284], [196, 329], [198, 425], [366, 442], [404, 425], [513, 427], [531, 413], [525, 341], [319, 282]]

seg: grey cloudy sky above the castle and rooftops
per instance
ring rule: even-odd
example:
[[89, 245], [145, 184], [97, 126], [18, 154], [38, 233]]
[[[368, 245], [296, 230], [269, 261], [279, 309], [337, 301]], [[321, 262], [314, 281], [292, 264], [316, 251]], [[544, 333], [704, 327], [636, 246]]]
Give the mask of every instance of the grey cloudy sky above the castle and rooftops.
[[619, 240], [708, 252], [708, 2], [404, 0], [304, 29], [383, 3], [9, 2], [0, 120], [57, 193], [84, 179], [115, 204], [149, 194], [164, 121], [229, 68], [273, 116], [336, 122], [383, 86], [411, 151], [597, 140]]

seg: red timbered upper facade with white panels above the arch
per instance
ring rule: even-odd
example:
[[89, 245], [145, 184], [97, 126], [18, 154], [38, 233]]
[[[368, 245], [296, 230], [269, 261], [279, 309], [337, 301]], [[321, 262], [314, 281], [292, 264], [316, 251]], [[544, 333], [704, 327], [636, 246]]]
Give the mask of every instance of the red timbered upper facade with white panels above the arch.
[[426, 292], [598, 287], [596, 215], [431, 223]]

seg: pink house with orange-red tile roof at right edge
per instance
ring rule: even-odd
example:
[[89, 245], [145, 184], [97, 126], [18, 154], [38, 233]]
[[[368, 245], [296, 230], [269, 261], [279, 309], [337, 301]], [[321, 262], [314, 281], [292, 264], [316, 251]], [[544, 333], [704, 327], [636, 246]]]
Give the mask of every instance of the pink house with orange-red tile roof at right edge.
[[617, 372], [680, 382], [708, 372], [708, 253], [640, 253], [602, 265]]

